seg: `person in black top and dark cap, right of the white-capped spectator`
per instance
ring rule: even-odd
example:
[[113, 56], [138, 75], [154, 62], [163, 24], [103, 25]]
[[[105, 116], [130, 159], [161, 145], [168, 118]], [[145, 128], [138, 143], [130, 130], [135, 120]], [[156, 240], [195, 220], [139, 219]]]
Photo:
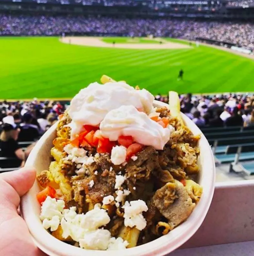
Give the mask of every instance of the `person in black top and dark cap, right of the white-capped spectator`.
[[39, 138], [38, 127], [31, 124], [32, 120], [33, 117], [29, 113], [23, 116], [24, 123], [20, 124], [19, 141], [35, 141]]

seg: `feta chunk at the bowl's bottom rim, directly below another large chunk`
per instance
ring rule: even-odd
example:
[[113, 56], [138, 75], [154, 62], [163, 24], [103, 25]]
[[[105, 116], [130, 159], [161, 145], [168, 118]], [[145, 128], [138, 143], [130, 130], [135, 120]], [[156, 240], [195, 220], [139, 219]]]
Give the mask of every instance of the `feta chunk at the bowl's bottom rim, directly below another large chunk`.
[[84, 238], [79, 240], [81, 248], [88, 250], [106, 250], [111, 234], [107, 229], [97, 229], [84, 235]]

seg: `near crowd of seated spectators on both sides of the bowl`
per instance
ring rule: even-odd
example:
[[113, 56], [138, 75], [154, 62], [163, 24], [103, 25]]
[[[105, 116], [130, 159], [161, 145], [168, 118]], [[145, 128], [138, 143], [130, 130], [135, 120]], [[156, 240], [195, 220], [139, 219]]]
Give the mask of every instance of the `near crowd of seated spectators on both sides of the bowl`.
[[[168, 97], [156, 95], [160, 101]], [[254, 126], [254, 95], [180, 95], [181, 111], [202, 127]], [[0, 157], [15, 158], [22, 166], [35, 143], [23, 150], [20, 142], [38, 140], [58, 120], [69, 101], [0, 102]], [[1, 168], [0, 162], [0, 168]], [[15, 166], [12, 166], [15, 167]]]

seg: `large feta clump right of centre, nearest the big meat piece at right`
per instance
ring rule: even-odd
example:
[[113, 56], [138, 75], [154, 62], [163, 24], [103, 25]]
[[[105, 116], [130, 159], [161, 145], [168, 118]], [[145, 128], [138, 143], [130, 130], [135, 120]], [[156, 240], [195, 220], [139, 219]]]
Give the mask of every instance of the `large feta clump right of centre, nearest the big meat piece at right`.
[[142, 230], [146, 227], [146, 220], [142, 212], [148, 211], [148, 207], [143, 200], [126, 201], [124, 206], [124, 225], [126, 227], [136, 227]]

